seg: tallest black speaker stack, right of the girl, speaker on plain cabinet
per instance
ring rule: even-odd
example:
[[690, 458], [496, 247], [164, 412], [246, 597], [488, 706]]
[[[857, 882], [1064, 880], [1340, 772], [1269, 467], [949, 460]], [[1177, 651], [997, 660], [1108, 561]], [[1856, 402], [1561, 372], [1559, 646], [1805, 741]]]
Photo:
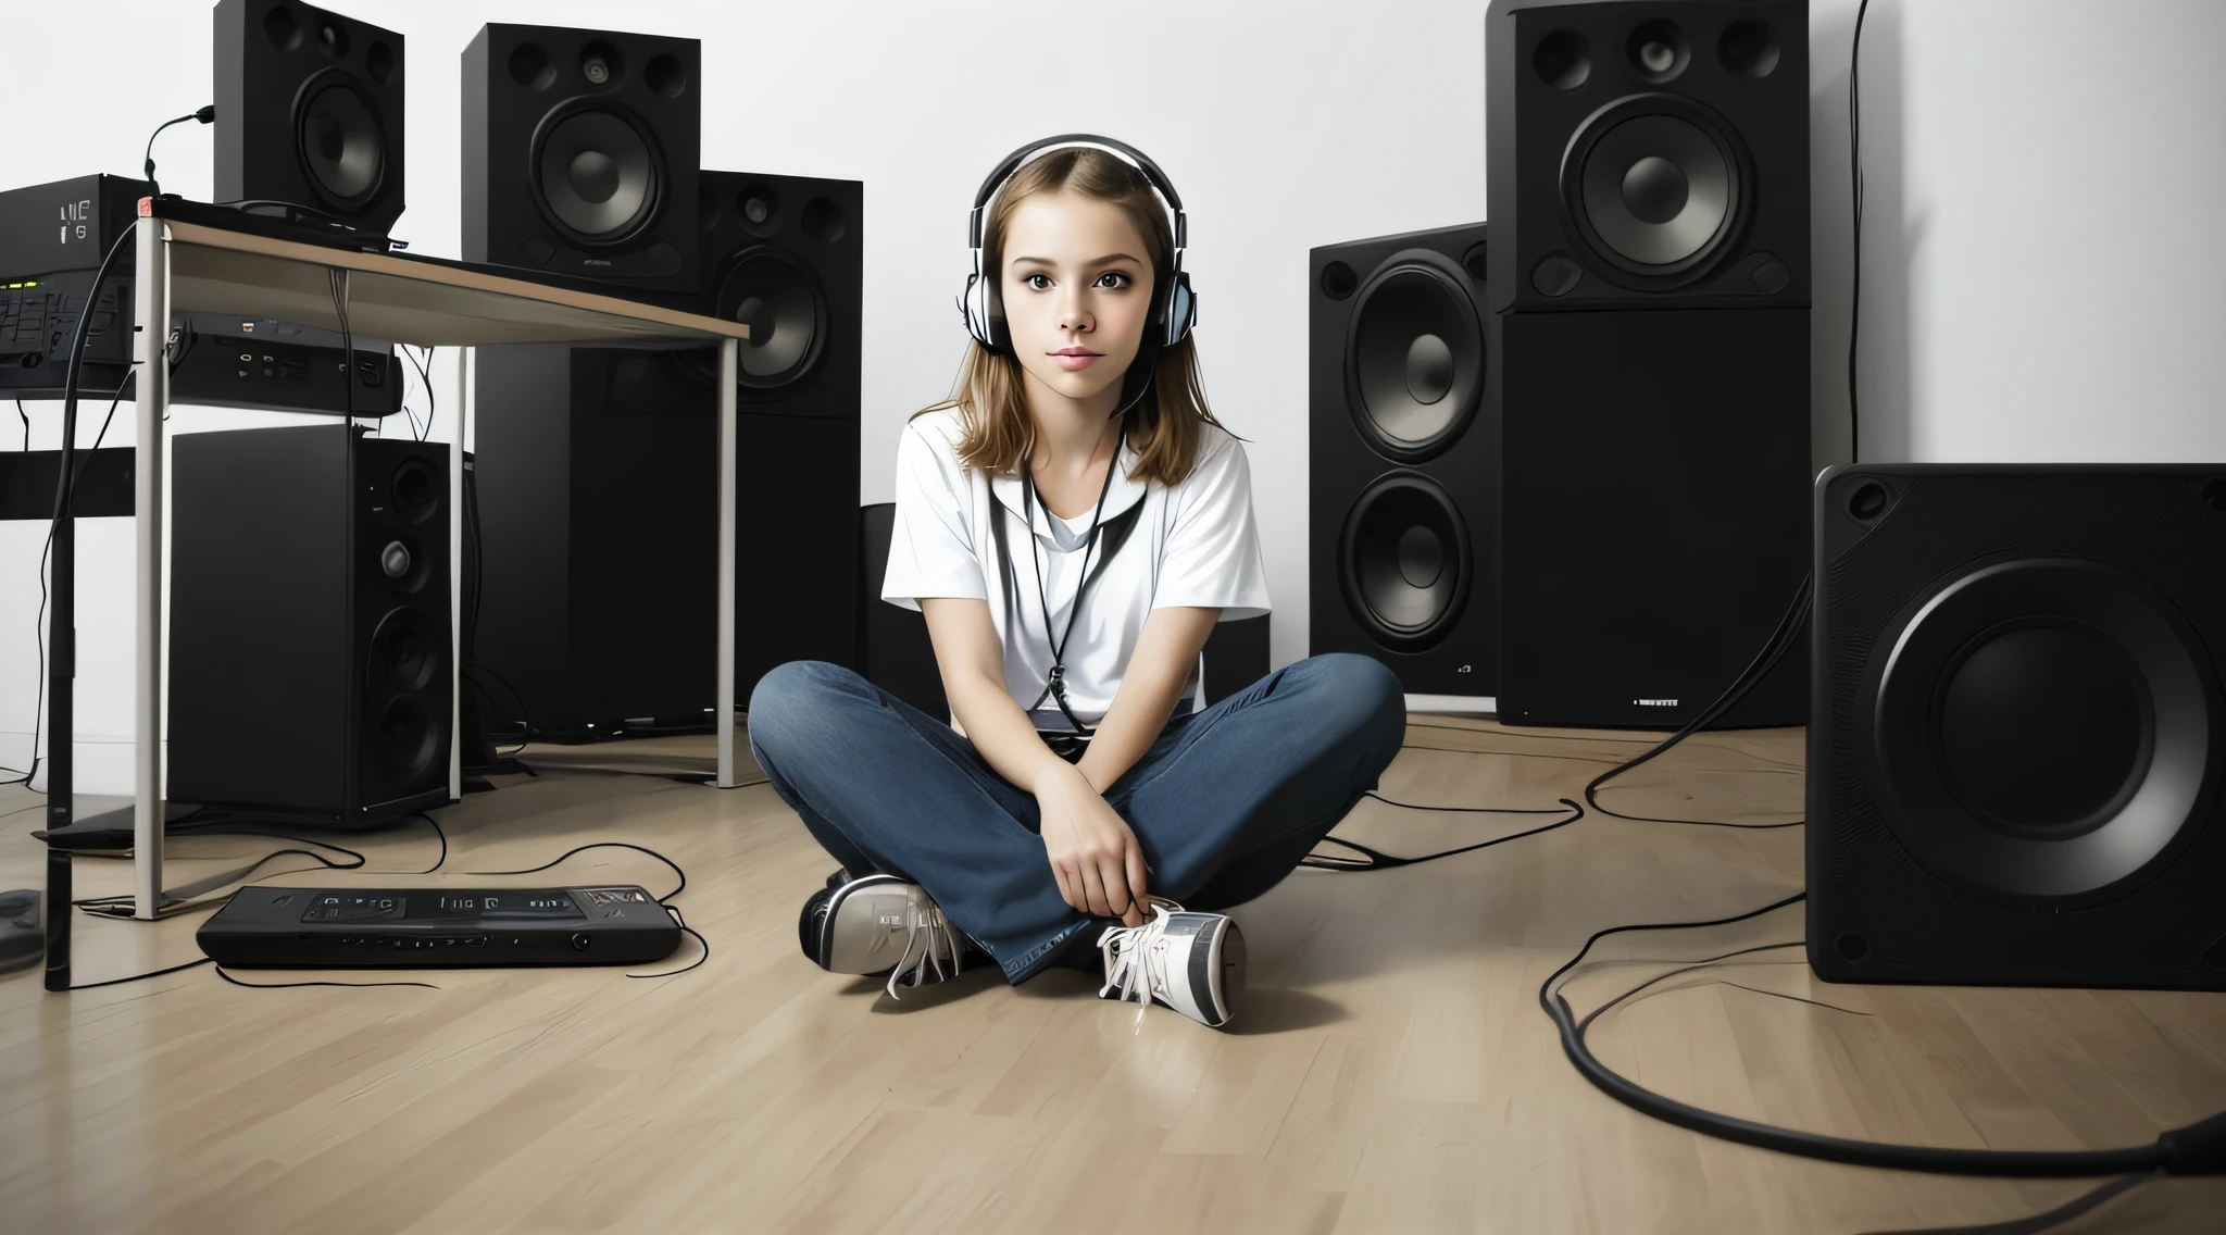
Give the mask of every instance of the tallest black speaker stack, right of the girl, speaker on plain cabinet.
[[1500, 717], [1678, 728], [1810, 545], [1808, 7], [1494, 0], [1485, 62]]

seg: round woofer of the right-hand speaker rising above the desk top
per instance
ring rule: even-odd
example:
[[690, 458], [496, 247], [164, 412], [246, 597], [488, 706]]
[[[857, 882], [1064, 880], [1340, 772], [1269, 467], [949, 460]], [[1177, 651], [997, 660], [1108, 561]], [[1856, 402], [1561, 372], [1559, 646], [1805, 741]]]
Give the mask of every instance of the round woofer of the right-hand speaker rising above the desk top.
[[617, 245], [657, 218], [663, 156], [648, 127], [610, 102], [559, 107], [532, 142], [534, 202], [581, 245]]

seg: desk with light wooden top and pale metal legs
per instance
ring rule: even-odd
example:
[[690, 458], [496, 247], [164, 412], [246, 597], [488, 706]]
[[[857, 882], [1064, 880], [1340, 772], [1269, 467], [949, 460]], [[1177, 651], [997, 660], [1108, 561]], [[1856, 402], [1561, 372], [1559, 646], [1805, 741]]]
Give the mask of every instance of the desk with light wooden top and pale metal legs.
[[[463, 596], [463, 443], [472, 423], [472, 347], [503, 343], [666, 343], [719, 345], [719, 786], [735, 783], [735, 381], [741, 323], [639, 305], [565, 285], [505, 278], [487, 267], [439, 258], [365, 254], [278, 240], [185, 220], [165, 220], [140, 200], [138, 323], [183, 312], [276, 318], [416, 347], [456, 347], [459, 423], [450, 443], [450, 757], [447, 790], [463, 797], [459, 699]], [[134, 708], [134, 917], [154, 919], [162, 890], [162, 414], [169, 374], [162, 332], [140, 329], [138, 365], [138, 603]], [[71, 741], [58, 732], [56, 741]], [[51, 861], [67, 863], [67, 852]], [[49, 890], [56, 883], [49, 863]], [[67, 868], [62, 875], [67, 888]], [[49, 895], [49, 939], [60, 928], [67, 986], [67, 895]], [[49, 961], [47, 988], [58, 990]]]

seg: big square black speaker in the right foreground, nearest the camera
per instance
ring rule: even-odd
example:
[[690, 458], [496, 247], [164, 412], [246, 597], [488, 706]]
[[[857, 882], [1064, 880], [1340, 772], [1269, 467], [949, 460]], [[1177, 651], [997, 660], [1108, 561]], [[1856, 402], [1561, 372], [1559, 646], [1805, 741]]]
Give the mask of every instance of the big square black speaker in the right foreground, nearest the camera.
[[2226, 463], [1814, 487], [1832, 981], [2226, 990]]

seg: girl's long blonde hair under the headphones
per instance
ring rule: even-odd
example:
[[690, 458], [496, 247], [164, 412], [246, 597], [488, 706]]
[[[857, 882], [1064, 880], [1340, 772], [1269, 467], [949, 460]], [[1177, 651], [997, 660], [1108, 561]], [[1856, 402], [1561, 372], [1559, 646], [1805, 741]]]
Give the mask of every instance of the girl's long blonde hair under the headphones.
[[[1133, 165], [1097, 147], [1066, 147], [1046, 154], [1006, 180], [982, 227], [982, 278], [995, 292], [1004, 278], [1004, 236], [1013, 211], [1035, 194], [1068, 191], [1120, 207], [1144, 236], [1151, 256], [1153, 294], [1164, 296], [1171, 278], [1175, 229], [1166, 209]], [[1149, 329], [1149, 325], [1146, 325]], [[1215, 425], [1206, 407], [1206, 387], [1198, 374], [1198, 347], [1184, 336], [1173, 347], [1144, 340], [1140, 356], [1151, 356], [1151, 389], [1129, 409], [1126, 438], [1140, 454], [1133, 476], [1178, 485], [1198, 463], [1200, 425]], [[1020, 472], [1035, 454], [1035, 421], [1022, 394], [1020, 356], [991, 352], [977, 338], [966, 340], [966, 358], [951, 398], [913, 412], [924, 416], [955, 407], [964, 425], [957, 445], [959, 463], [982, 467], [993, 476]]]

